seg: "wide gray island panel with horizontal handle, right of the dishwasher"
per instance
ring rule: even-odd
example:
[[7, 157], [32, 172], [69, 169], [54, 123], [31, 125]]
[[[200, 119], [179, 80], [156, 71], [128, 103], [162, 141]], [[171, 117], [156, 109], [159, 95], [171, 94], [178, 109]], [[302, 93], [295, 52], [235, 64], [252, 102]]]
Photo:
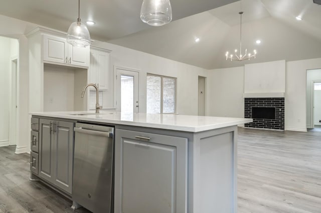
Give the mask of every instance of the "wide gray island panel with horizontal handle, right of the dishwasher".
[[188, 139], [123, 129], [115, 139], [114, 212], [187, 212]]

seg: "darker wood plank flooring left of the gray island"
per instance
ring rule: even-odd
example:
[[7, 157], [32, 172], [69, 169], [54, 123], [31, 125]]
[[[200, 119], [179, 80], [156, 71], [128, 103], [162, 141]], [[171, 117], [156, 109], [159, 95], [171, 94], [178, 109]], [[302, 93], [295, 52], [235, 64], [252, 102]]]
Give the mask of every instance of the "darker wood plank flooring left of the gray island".
[[30, 181], [29, 154], [15, 154], [14, 146], [0, 147], [0, 213], [73, 211], [72, 202], [39, 181]]

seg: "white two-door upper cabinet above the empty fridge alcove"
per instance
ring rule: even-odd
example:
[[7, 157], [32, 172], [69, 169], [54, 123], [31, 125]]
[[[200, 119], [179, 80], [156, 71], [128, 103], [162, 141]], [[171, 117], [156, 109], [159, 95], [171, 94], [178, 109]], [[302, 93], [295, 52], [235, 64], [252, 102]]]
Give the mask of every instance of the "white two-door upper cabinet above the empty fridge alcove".
[[89, 66], [90, 47], [75, 47], [66, 38], [43, 35], [44, 61], [77, 66]]

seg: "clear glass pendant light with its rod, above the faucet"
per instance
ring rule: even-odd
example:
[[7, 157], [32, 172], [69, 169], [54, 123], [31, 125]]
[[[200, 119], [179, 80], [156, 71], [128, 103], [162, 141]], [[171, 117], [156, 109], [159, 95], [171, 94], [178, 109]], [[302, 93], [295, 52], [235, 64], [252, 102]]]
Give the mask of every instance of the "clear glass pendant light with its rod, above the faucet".
[[69, 26], [67, 42], [78, 47], [86, 47], [90, 45], [90, 34], [88, 28], [86, 24], [80, 22], [80, 0], [78, 0], [78, 19]]

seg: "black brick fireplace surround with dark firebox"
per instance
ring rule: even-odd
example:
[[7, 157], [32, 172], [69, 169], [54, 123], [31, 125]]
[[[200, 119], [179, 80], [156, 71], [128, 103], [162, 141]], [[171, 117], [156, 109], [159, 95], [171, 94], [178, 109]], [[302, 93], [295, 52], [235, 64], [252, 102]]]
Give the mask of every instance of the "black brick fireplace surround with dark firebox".
[[245, 127], [284, 130], [284, 97], [245, 97]]

